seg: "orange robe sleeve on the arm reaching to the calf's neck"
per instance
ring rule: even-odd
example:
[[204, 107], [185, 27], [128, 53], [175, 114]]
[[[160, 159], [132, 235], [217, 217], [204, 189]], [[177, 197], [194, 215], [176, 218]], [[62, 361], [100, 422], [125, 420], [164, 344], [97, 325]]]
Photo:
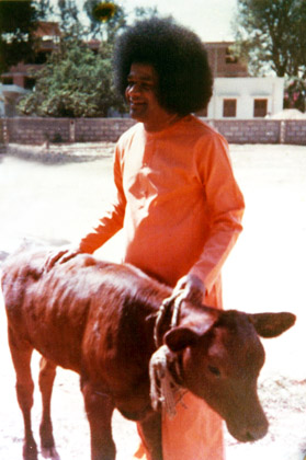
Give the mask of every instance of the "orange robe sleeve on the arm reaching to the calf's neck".
[[205, 188], [209, 230], [203, 251], [190, 273], [202, 278], [209, 291], [242, 230], [245, 202], [233, 175], [225, 139], [211, 137], [199, 148], [206, 157], [199, 169]]

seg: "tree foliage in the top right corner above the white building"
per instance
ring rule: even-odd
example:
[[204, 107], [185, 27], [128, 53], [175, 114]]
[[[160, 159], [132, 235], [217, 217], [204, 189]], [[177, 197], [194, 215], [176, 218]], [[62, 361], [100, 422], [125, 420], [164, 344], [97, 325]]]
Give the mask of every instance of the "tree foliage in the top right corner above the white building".
[[238, 0], [235, 28], [253, 74], [306, 78], [305, 0]]

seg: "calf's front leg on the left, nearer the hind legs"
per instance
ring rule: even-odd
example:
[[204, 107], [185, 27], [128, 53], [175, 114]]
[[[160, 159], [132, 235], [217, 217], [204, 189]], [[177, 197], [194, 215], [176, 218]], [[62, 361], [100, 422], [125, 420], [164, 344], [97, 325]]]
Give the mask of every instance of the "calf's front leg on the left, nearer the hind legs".
[[88, 382], [81, 383], [81, 390], [90, 426], [91, 460], [115, 460], [112, 436], [114, 404], [110, 396], [95, 391]]

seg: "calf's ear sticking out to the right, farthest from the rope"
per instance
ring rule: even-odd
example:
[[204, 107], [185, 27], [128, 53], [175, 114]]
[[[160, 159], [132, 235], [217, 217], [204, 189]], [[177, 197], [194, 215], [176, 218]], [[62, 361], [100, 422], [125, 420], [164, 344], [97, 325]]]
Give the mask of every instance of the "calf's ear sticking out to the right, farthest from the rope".
[[276, 337], [287, 331], [295, 323], [296, 317], [293, 313], [256, 313], [249, 314], [249, 320], [254, 325], [261, 337]]

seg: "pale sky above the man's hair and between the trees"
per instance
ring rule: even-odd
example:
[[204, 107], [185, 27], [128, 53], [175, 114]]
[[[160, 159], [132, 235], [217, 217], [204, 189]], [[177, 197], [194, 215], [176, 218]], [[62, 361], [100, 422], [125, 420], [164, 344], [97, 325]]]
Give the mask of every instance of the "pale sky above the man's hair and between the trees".
[[[77, 0], [82, 10], [84, 0]], [[57, 0], [52, 0], [57, 4]], [[157, 7], [161, 15], [171, 14], [193, 30], [204, 42], [233, 39], [230, 21], [236, 11], [237, 0], [117, 0], [127, 12], [136, 7]]]

